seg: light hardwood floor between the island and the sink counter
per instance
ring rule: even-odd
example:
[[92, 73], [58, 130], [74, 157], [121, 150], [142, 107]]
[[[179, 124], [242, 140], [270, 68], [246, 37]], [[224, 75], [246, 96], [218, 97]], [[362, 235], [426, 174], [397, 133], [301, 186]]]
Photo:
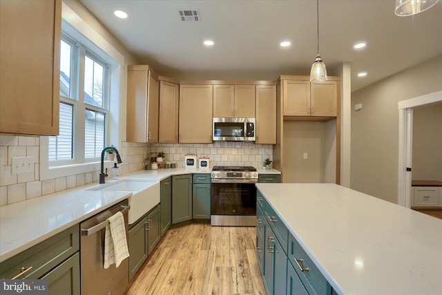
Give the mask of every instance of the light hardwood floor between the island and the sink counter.
[[266, 294], [255, 240], [255, 227], [169, 229], [126, 294]]

